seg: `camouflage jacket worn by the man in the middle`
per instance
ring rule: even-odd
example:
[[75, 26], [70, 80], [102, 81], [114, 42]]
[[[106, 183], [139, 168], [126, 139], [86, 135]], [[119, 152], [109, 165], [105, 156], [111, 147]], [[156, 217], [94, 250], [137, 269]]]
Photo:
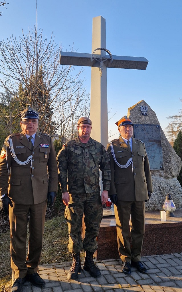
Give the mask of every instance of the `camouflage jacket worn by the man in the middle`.
[[100, 192], [99, 169], [102, 172], [103, 190], [109, 190], [111, 172], [109, 156], [104, 146], [92, 138], [84, 145], [74, 138], [57, 155], [59, 183], [62, 192]]

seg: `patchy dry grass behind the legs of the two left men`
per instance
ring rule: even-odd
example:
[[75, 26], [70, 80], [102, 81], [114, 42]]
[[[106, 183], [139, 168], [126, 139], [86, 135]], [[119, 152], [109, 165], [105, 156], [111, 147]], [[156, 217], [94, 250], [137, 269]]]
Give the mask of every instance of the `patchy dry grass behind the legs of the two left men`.
[[[67, 250], [68, 240], [68, 228], [64, 215], [46, 219], [40, 265], [72, 261], [72, 255]], [[12, 270], [9, 230], [0, 233], [0, 255], [0, 291], [10, 292]], [[81, 258], [84, 258], [84, 252], [81, 253]]]

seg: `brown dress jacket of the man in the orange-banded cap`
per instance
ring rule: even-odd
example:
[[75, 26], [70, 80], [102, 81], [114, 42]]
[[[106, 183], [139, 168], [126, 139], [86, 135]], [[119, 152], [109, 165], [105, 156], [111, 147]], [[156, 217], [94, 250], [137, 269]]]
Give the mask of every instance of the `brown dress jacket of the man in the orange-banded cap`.
[[125, 165], [129, 158], [133, 160], [127, 168], [120, 168], [111, 153], [110, 144], [107, 151], [110, 157], [111, 184], [109, 196], [117, 194], [118, 200], [122, 201], [144, 201], [148, 199], [148, 192], [152, 190], [152, 179], [150, 165], [145, 150], [145, 145], [141, 140], [132, 137], [132, 153], [122, 137], [112, 140], [114, 154], [117, 162]]

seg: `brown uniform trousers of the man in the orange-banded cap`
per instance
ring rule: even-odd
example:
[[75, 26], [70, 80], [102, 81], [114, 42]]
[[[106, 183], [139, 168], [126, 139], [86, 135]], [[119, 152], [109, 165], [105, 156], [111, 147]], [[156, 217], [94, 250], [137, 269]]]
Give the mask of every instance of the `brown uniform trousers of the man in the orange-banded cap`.
[[[141, 259], [143, 237], [145, 232], [145, 202], [119, 201], [115, 208], [117, 243], [120, 258], [123, 262]], [[131, 227], [129, 220], [131, 215]], [[131, 247], [129, 232], [131, 231]]]

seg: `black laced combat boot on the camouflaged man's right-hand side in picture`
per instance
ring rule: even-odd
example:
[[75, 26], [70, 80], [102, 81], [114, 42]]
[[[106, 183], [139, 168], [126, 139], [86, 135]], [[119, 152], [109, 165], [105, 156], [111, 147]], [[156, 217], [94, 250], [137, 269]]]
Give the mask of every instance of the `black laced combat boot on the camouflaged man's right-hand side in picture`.
[[92, 277], [99, 277], [100, 276], [100, 270], [98, 269], [98, 267], [95, 265], [94, 261], [93, 261], [93, 253], [91, 253], [90, 251], [85, 251], [85, 259], [84, 259], [84, 270], [89, 272], [89, 274]]

